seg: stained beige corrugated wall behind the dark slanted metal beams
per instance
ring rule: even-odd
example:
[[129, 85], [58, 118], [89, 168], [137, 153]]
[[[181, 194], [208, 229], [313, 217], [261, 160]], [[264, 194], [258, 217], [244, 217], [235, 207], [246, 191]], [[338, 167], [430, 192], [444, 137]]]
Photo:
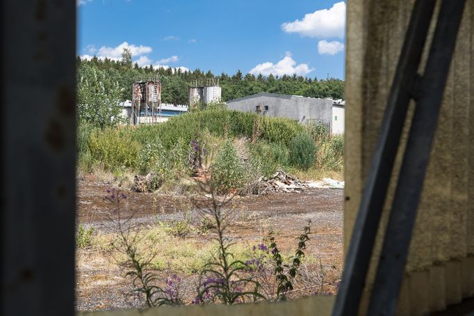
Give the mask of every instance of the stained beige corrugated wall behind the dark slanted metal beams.
[[[348, 1], [345, 98], [350, 119], [345, 125], [346, 250], [413, 4], [414, 0]], [[463, 297], [474, 296], [473, 34], [474, 1], [468, 0], [411, 240], [398, 306], [400, 315], [423, 315], [458, 303]], [[406, 125], [403, 140], [408, 121]], [[397, 173], [403, 143], [395, 164]], [[393, 198], [395, 182], [393, 176], [387, 205]], [[366, 290], [370, 289], [377, 267], [387, 210], [385, 207]], [[367, 292], [364, 302], [368, 299]]]

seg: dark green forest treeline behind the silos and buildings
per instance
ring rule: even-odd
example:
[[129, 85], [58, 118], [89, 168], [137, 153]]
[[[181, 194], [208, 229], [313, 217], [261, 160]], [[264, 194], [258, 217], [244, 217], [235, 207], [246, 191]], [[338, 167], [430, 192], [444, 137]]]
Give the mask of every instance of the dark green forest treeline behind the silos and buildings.
[[[109, 58], [97, 57], [85, 60], [78, 56], [78, 82], [99, 76], [104, 81], [120, 87], [120, 99], [124, 101], [131, 100], [131, 86], [136, 79], [158, 77], [162, 85], [162, 102], [173, 104], [188, 104], [188, 86], [191, 81], [211, 78], [219, 79], [224, 102], [261, 92], [334, 99], [343, 99], [344, 95], [344, 81], [329, 78], [329, 76], [326, 79], [311, 79], [296, 74], [283, 76], [270, 74], [265, 77], [261, 74], [258, 76], [243, 74], [240, 70], [233, 75], [213, 74], [211, 71], [203, 72], [199, 68], [193, 71], [182, 71], [172, 68], [153, 68], [152, 65], [139, 67], [138, 64], [132, 62], [131, 54], [124, 52], [122, 57], [121, 61], [113, 61]], [[108, 86], [105, 82], [104, 84]]]

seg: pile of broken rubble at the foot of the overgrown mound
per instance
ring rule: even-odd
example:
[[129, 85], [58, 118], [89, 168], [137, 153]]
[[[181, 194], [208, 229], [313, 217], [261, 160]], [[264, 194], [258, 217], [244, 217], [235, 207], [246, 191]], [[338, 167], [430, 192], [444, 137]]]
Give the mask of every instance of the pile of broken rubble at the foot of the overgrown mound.
[[255, 194], [267, 194], [270, 192], [301, 192], [304, 190], [304, 184], [297, 178], [288, 175], [282, 170], [272, 175], [272, 177], [261, 177], [256, 184]]

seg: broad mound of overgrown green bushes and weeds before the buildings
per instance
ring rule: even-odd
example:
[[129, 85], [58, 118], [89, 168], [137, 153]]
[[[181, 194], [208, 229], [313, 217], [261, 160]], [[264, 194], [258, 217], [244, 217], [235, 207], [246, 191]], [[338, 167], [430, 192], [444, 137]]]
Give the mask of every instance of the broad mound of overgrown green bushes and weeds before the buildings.
[[214, 173], [216, 190], [228, 193], [279, 168], [307, 175], [343, 169], [343, 137], [330, 136], [325, 125], [303, 126], [219, 106], [160, 125], [101, 129], [80, 124], [78, 151], [85, 173], [100, 169], [117, 178], [150, 173], [151, 187], [171, 191], [195, 189], [185, 180], [199, 172]]

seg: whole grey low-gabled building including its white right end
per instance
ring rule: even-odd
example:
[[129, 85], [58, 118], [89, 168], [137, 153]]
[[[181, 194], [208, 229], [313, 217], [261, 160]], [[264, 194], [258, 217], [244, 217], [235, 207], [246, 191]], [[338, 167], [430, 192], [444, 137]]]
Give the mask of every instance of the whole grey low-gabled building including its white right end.
[[344, 134], [343, 100], [317, 99], [300, 95], [257, 93], [227, 101], [231, 110], [256, 112], [264, 116], [284, 117], [298, 123], [322, 122], [332, 134]]

